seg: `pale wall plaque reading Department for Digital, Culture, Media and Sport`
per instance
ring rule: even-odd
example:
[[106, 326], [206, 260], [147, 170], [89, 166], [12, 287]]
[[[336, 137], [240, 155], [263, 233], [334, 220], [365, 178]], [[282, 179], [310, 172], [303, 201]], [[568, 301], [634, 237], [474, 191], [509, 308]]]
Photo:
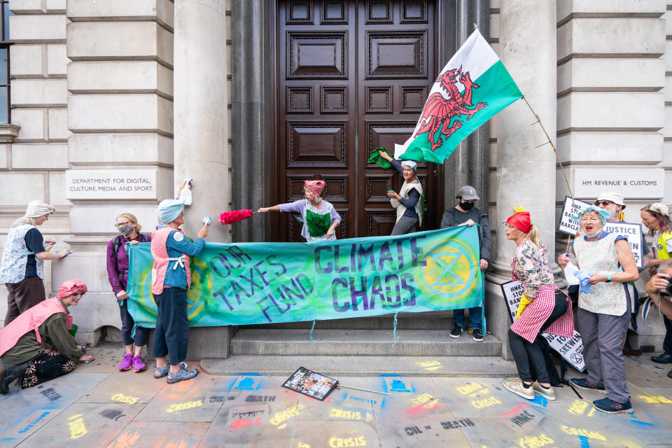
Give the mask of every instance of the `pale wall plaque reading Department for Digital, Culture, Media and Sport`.
[[69, 200], [157, 199], [153, 169], [70, 169], [65, 172]]

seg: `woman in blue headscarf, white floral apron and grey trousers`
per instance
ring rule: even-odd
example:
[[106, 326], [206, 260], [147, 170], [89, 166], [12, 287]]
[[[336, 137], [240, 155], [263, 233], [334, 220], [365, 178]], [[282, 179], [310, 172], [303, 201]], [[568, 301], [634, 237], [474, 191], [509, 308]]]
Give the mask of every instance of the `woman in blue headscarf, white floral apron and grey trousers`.
[[[593, 402], [598, 411], [631, 413], [621, 349], [630, 323], [630, 302], [622, 283], [636, 281], [639, 274], [627, 238], [604, 232], [609, 217], [608, 211], [592, 205], [573, 216], [580, 221], [583, 232], [574, 240], [573, 250], [580, 271], [588, 279], [579, 292], [577, 313], [588, 376], [571, 381], [577, 388], [609, 395]], [[558, 257], [561, 267], [568, 262], [567, 254]]]

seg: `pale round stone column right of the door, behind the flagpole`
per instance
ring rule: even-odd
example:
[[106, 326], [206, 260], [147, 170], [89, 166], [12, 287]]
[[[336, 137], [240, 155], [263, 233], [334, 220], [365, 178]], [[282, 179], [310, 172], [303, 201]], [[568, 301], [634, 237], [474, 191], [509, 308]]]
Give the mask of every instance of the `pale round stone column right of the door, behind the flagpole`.
[[[556, 134], [556, 2], [502, 0], [500, 3], [499, 55], [521, 92], [540, 116], [552, 139]], [[550, 145], [524, 100], [497, 116], [496, 229], [494, 271], [486, 286], [488, 328], [503, 342], [510, 357], [507, 328], [510, 319], [502, 300], [500, 283], [511, 279], [510, 263], [515, 244], [507, 241], [501, 221], [516, 205], [532, 216], [554, 264], [556, 164]]]

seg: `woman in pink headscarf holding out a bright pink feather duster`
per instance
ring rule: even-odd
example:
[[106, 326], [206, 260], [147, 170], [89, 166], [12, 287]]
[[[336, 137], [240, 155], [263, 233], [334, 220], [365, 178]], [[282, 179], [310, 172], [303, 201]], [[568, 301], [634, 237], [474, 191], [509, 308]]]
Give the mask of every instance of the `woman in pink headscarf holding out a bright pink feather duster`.
[[267, 211], [294, 211], [303, 219], [301, 236], [309, 243], [312, 241], [325, 241], [336, 239], [334, 230], [341, 222], [341, 216], [334, 206], [322, 199], [324, 181], [305, 181], [303, 192], [306, 199], [278, 204], [273, 207], [261, 207], [259, 213]]

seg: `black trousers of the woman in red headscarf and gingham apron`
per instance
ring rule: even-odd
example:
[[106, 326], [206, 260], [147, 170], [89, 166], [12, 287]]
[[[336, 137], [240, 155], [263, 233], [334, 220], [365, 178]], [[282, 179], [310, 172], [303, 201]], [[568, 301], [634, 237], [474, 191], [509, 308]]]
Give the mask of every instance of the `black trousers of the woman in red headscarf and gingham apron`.
[[549, 318], [539, 330], [539, 335], [533, 343], [529, 342], [524, 337], [517, 335], [509, 328], [509, 346], [513, 353], [513, 358], [516, 361], [518, 369], [518, 376], [526, 383], [533, 381], [534, 370], [535, 377], [540, 383], [549, 382], [548, 370], [546, 369], [546, 360], [542, 351], [541, 333], [556, 321], [557, 318], [565, 314], [567, 311], [567, 297], [565, 295], [556, 295], [553, 311]]

